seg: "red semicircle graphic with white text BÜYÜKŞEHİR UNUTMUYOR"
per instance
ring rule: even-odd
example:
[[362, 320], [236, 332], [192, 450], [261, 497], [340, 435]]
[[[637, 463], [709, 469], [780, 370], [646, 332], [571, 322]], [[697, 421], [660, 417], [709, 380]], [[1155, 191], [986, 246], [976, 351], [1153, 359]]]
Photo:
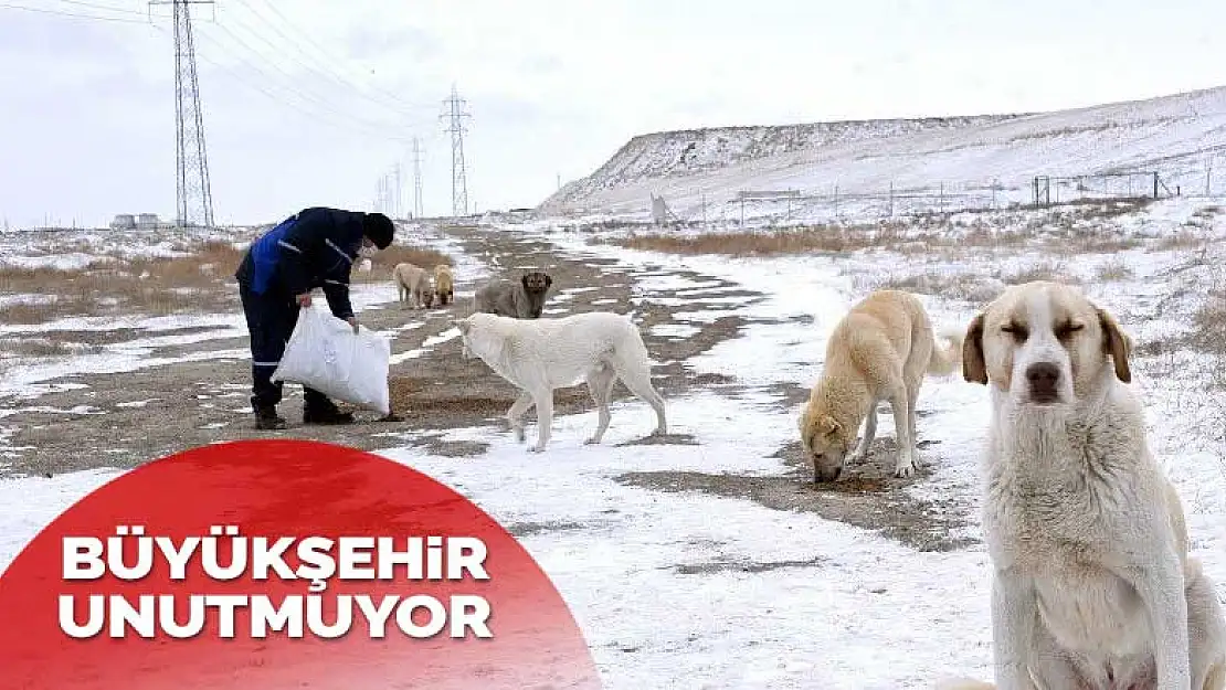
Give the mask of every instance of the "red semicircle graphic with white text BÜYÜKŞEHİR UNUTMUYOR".
[[[185, 550], [212, 532], [222, 534]], [[321, 539], [303, 542], [310, 537]], [[278, 552], [283, 538], [293, 545]], [[315, 552], [295, 550], [308, 543]], [[369, 550], [376, 544], [394, 550]], [[65, 554], [77, 550], [67, 560], [83, 576], [89, 564], [114, 567], [65, 580]], [[322, 591], [293, 578], [299, 566], [326, 566], [320, 552], [365, 578], [332, 577]], [[204, 563], [227, 578], [210, 577]], [[234, 563], [250, 567], [227, 574]], [[135, 578], [142, 564], [152, 567]], [[206, 446], [101, 487], [4, 572], [0, 618], [2, 689], [600, 688], [558, 591], [484, 511], [412, 468], [311, 441]]]

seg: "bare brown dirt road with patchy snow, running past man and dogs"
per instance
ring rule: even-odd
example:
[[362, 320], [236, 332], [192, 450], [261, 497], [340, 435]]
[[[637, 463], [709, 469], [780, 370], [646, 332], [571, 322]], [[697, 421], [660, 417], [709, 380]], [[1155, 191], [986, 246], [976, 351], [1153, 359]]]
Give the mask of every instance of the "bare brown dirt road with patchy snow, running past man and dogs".
[[[566, 255], [547, 239], [526, 239], [510, 232], [483, 232], [452, 228], [449, 233], [463, 251], [479, 259], [492, 272], [541, 268], [554, 277], [554, 293], [546, 305], [549, 315], [590, 310], [635, 310], [652, 358], [662, 365], [653, 370], [656, 384], [666, 398], [676, 398], [696, 387], [734, 395], [743, 386], [727, 375], [695, 374], [687, 360], [715, 344], [738, 337], [753, 322], [742, 316], [721, 316], [710, 321], [685, 321], [687, 335], [660, 335], [655, 326], [676, 324], [678, 311], [726, 309], [729, 297], [748, 301], [759, 299], [753, 290], [718, 278], [685, 271], [667, 271], [657, 266], [629, 266], [617, 261]], [[684, 306], [656, 301], [635, 301], [635, 286], [646, 277], [676, 275], [704, 284], [687, 290]], [[460, 284], [460, 290], [472, 286]], [[581, 292], [580, 292], [581, 290]], [[672, 304], [672, 303], [669, 303]], [[248, 347], [246, 338], [210, 339], [194, 346], [157, 348], [153, 358], [177, 358], [200, 348], [234, 351], [230, 357], [148, 366], [124, 374], [66, 376], [56, 380], [76, 384], [74, 390], [48, 393], [38, 400], [0, 402], [7, 414], [0, 425], [9, 429], [7, 467], [0, 476], [48, 476], [96, 467], [130, 468], [150, 460], [211, 442], [250, 438], [309, 438], [364, 450], [428, 446], [430, 452], [454, 456], [457, 462], [481, 455], [481, 442], [454, 442], [440, 439], [438, 431], [490, 423], [490, 433], [503, 433], [501, 417], [514, 401], [514, 389], [489, 371], [479, 360], [465, 360], [457, 338], [438, 342], [450, 330], [449, 319], [466, 314], [467, 305], [412, 311], [396, 304], [383, 305], [362, 314], [374, 328], [396, 328], [408, 321], [424, 320], [412, 330], [400, 331], [392, 343], [394, 355], [418, 348], [419, 357], [392, 366], [394, 407], [402, 422], [378, 422], [371, 413], [358, 413], [352, 427], [302, 427], [302, 393], [287, 386], [282, 414], [291, 428], [260, 433], [251, 428], [249, 406], [249, 360], [238, 353]], [[237, 299], [234, 310], [238, 313]], [[186, 333], [191, 330], [164, 335]], [[128, 335], [131, 336], [130, 333]], [[61, 333], [60, 337], [119, 338], [121, 333]], [[428, 342], [429, 341], [429, 342]], [[791, 414], [807, 391], [781, 384], [772, 391], [781, 414]], [[619, 384], [618, 400], [629, 396]], [[582, 386], [559, 391], [557, 413], [591, 408]], [[37, 407], [36, 407], [37, 406]], [[531, 418], [531, 413], [530, 413]], [[695, 444], [695, 439], [673, 435], [649, 442]], [[879, 440], [874, 455], [889, 453], [893, 439]], [[962, 544], [950, 537], [950, 529], [965, 522], [965, 506], [934, 505], [918, 501], [901, 489], [902, 480], [890, 477], [889, 460], [848, 468], [846, 480], [832, 488], [817, 489], [792, 439], [781, 439], [776, 456], [787, 469], [777, 477], [741, 477], [678, 472], [634, 473], [620, 482], [663, 491], [704, 491], [726, 498], [754, 500], [776, 510], [814, 511], [824, 517], [850, 522], [920, 549], [948, 549]], [[922, 472], [918, 480], [923, 480]]]

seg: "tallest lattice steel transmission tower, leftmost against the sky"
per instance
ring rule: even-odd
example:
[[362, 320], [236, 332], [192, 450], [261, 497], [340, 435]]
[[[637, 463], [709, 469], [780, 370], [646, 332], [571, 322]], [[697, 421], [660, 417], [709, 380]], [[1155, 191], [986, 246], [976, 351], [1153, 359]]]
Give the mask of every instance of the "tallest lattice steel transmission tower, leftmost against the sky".
[[200, 108], [200, 83], [196, 80], [196, 47], [191, 38], [191, 5], [213, 5], [213, 0], [150, 0], [150, 5], [170, 5], [174, 20], [174, 115], [175, 115], [175, 192], [181, 227], [213, 227], [213, 194], [208, 183], [208, 158], [205, 154], [205, 123]]

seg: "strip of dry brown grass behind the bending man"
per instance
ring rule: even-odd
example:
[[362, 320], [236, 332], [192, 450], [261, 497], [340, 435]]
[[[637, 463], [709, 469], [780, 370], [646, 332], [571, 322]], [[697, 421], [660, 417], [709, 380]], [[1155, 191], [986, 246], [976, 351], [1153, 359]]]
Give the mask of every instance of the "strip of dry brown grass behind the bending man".
[[[175, 248], [174, 257], [104, 256], [78, 270], [0, 267], [0, 294], [54, 294], [54, 301], [0, 306], [0, 322], [43, 324], [67, 316], [167, 315], [237, 309], [234, 271], [246, 251], [226, 241]], [[400, 261], [434, 267], [452, 263], [432, 250], [394, 245], [378, 252], [369, 273], [354, 282], [387, 279]]]

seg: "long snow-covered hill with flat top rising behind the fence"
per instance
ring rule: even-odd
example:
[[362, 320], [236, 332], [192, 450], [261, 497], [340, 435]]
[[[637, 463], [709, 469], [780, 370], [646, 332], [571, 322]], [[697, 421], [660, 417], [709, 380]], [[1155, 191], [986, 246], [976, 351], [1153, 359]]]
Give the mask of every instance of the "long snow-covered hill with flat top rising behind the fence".
[[[541, 211], [638, 214], [655, 194], [677, 216], [698, 219], [729, 213], [741, 191], [796, 190], [802, 199], [791, 208], [803, 216], [891, 189], [899, 200], [956, 207], [977, 205], [967, 201], [975, 197], [1027, 202], [1036, 175], [1113, 173], [1138, 175], [1085, 180], [1081, 191], [1151, 194], [1152, 178], [1143, 174], [1157, 173], [1162, 194], [1204, 192], [1206, 179], [1220, 194], [1226, 174], [1209, 167], [1221, 151], [1226, 87], [1040, 114], [688, 130], [633, 138]], [[1078, 183], [1069, 185], [1053, 189], [1053, 199], [1076, 194]]]

